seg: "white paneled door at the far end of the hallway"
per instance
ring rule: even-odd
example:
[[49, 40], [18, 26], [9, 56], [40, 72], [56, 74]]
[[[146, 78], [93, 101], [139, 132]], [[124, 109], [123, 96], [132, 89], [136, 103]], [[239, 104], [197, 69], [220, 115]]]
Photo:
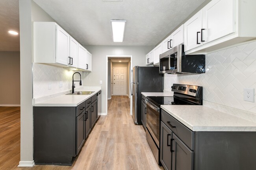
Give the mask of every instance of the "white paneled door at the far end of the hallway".
[[113, 95], [126, 95], [126, 67], [113, 67]]

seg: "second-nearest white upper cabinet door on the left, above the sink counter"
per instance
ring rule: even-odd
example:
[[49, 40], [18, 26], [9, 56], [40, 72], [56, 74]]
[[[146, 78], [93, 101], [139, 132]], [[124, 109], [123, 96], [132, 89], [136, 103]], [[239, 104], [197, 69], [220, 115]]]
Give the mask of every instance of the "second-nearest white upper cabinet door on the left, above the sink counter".
[[77, 68], [77, 64], [78, 64], [78, 42], [72, 37], [69, 37], [68, 64], [70, 64], [70, 66], [75, 68]]

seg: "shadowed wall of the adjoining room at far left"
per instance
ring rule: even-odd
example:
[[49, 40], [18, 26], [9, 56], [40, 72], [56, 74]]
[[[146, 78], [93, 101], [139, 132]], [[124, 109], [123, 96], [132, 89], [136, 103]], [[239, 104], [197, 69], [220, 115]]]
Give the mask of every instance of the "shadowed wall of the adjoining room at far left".
[[0, 106], [20, 105], [20, 52], [0, 51]]

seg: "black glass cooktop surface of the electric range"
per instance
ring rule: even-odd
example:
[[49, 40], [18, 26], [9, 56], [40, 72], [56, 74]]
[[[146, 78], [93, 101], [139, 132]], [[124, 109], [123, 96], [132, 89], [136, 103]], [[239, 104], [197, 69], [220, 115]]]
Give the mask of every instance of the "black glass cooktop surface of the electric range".
[[148, 96], [147, 99], [159, 108], [160, 105], [194, 105], [173, 96]]

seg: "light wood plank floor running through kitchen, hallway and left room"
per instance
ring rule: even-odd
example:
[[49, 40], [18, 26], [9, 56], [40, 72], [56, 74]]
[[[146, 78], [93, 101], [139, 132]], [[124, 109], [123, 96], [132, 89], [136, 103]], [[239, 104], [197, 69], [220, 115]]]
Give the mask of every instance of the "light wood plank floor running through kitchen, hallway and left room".
[[[19, 111], [19, 108], [15, 110]], [[12, 117], [4, 113], [0, 109], [0, 170], [163, 170], [150, 150], [143, 126], [133, 122], [127, 96], [112, 96], [108, 101], [108, 115], [100, 116], [72, 166], [17, 167], [20, 158], [20, 118], [16, 113], [19, 121], [9, 121]], [[5, 123], [9, 124], [6, 130], [2, 128]]]

